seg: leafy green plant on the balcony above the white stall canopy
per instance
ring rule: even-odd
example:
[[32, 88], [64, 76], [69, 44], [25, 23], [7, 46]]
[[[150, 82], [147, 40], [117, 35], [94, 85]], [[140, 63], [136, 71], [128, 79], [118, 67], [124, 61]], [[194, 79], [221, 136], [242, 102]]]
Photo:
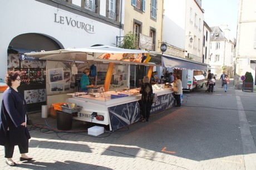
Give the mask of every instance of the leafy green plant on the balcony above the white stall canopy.
[[131, 31], [127, 33], [124, 37], [124, 43], [122, 43], [119, 47], [125, 49], [136, 49], [136, 42], [139, 40], [137, 36]]

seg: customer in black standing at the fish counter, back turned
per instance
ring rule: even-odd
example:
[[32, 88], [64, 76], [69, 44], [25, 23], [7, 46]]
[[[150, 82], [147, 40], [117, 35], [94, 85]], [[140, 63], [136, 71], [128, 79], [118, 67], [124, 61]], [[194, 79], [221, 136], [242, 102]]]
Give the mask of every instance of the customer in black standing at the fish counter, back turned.
[[149, 121], [150, 110], [152, 105], [151, 94], [153, 93], [152, 85], [149, 83], [149, 77], [145, 76], [141, 84], [141, 103], [142, 103], [142, 120], [141, 122]]

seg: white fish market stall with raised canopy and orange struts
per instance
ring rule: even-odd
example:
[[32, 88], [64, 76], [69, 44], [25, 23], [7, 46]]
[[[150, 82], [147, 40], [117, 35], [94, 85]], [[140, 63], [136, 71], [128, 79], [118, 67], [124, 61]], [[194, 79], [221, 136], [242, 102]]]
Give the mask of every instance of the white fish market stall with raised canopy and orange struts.
[[[49, 65], [55, 66], [58, 65], [55, 63], [58, 61], [70, 62], [72, 66], [74, 63], [76, 65], [78, 63], [108, 64], [104, 86], [91, 89], [89, 94], [69, 90], [63, 95], [67, 96], [66, 102], [76, 103], [77, 106], [82, 107], [73, 119], [109, 125], [110, 130], [115, 131], [116, 129], [139, 121], [141, 94], [139, 93], [139, 89], [130, 89], [129, 83], [125, 83], [127, 86], [122, 86], [121, 88], [118, 88], [120, 82], [117, 83], [116, 86], [112, 86], [115, 84], [115, 82], [111, 82], [114, 72], [113, 67], [115, 67], [115, 64], [116, 66], [125, 64], [127, 66], [149, 66], [147, 76], [151, 77], [152, 68], [154, 66], [161, 66], [161, 63], [149, 62], [151, 53], [157, 52], [97, 46], [81, 49], [60, 49], [57, 51], [26, 53], [26, 55], [44, 59], [51, 63]], [[152, 59], [151, 61], [155, 60]], [[119, 78], [122, 78], [122, 81], [130, 82], [129, 68], [122, 72], [122, 76], [119, 76]], [[47, 68], [47, 76], [48, 71], [49, 69]], [[49, 77], [50, 76], [46, 78], [47, 84], [50, 84], [49, 82], [51, 81]], [[50, 88], [50, 86], [46, 86], [46, 88]], [[112, 91], [110, 89], [112, 89]], [[157, 94], [157, 101], [152, 105], [151, 114], [161, 112], [175, 105], [171, 88], [164, 88], [164, 84], [159, 84], [159, 86], [153, 86], [153, 89], [154, 93]], [[52, 98], [52, 94], [48, 95], [50, 93], [51, 91], [47, 90], [48, 108], [50, 108], [52, 104], [52, 102], [50, 102], [52, 100], [48, 100], [48, 97]], [[59, 100], [57, 103], [62, 102], [58, 95], [56, 95], [55, 99], [57, 99], [57, 101]]]

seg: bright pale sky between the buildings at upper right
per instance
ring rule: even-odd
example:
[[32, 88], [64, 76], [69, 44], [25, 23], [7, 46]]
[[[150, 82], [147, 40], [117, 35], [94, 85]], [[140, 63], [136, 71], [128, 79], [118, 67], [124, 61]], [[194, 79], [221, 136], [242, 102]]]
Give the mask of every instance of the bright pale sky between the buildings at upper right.
[[227, 24], [230, 29], [230, 38], [237, 37], [237, 19], [239, 0], [202, 0], [204, 21], [209, 27]]

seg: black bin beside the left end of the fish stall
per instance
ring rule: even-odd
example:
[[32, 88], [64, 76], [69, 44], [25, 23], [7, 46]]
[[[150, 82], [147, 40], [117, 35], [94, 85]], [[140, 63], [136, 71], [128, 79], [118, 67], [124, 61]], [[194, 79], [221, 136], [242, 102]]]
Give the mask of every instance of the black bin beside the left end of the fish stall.
[[73, 116], [72, 113], [56, 111], [57, 113], [57, 129], [69, 131], [72, 128]]

